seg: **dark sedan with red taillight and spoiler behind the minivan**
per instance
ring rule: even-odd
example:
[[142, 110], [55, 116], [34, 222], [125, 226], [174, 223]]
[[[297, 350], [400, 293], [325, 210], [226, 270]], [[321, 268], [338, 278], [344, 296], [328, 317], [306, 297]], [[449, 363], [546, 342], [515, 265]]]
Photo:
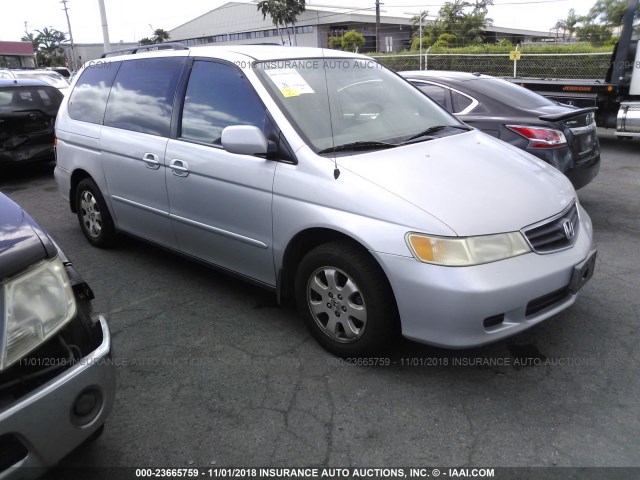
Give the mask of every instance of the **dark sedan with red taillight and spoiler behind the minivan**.
[[400, 75], [466, 124], [553, 165], [576, 189], [598, 174], [595, 108], [559, 104], [506, 80], [476, 73], [429, 70]]

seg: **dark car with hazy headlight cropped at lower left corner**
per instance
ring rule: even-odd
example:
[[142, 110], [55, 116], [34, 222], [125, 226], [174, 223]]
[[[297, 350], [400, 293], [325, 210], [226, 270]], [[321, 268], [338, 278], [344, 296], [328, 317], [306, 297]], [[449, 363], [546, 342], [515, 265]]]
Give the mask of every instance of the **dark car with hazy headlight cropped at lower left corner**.
[[115, 366], [92, 299], [51, 237], [0, 193], [0, 478], [34, 478], [102, 432]]

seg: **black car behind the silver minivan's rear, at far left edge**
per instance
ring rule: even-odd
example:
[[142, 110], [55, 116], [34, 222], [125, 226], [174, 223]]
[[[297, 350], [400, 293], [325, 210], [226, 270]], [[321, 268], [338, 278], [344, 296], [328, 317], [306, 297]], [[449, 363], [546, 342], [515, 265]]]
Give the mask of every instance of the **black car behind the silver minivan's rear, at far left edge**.
[[40, 80], [0, 79], [0, 166], [53, 160], [62, 98]]

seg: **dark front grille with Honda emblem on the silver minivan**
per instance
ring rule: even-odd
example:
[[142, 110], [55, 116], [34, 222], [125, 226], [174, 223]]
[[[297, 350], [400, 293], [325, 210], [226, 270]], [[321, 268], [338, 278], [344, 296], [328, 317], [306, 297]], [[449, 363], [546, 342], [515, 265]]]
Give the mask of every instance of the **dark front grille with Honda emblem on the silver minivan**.
[[551, 253], [571, 247], [580, 227], [578, 207], [571, 204], [564, 212], [542, 225], [525, 229], [524, 235], [537, 253]]

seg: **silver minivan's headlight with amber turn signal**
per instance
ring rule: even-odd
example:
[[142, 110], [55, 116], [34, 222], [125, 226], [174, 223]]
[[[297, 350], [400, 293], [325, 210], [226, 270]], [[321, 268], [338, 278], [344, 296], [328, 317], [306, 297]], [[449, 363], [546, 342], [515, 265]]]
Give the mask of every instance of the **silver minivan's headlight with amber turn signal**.
[[407, 243], [417, 260], [448, 267], [480, 265], [531, 251], [520, 232], [466, 238], [409, 233]]

